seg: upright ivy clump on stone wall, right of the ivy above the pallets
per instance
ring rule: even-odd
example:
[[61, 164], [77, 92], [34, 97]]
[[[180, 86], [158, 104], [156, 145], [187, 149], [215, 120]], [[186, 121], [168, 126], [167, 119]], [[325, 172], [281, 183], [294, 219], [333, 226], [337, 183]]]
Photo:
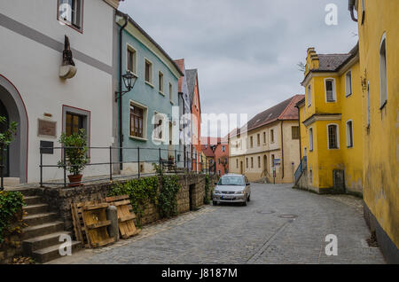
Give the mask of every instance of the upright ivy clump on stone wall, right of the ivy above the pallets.
[[161, 176], [162, 189], [158, 195], [158, 211], [160, 217], [177, 215], [177, 192], [180, 191], [179, 178], [177, 176]]

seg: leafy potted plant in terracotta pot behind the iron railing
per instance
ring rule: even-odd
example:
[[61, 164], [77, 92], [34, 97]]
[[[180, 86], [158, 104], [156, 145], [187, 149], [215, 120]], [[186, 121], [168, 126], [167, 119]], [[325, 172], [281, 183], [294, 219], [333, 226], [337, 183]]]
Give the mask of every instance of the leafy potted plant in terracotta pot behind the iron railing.
[[79, 132], [74, 133], [70, 136], [66, 136], [63, 132], [59, 137], [59, 143], [64, 147], [65, 150], [65, 163], [59, 161], [59, 168], [66, 167], [66, 170], [70, 173], [69, 187], [79, 186], [82, 182], [82, 170], [88, 163], [87, 152], [89, 150], [87, 146], [87, 136], [84, 129], [80, 129]]

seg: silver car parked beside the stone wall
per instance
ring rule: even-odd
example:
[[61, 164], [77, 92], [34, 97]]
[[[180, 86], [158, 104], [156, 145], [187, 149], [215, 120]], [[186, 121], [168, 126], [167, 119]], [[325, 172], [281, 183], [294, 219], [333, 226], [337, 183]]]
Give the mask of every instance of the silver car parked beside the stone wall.
[[251, 200], [251, 184], [246, 176], [227, 174], [215, 183], [216, 187], [212, 195], [214, 206], [221, 203], [246, 203]]

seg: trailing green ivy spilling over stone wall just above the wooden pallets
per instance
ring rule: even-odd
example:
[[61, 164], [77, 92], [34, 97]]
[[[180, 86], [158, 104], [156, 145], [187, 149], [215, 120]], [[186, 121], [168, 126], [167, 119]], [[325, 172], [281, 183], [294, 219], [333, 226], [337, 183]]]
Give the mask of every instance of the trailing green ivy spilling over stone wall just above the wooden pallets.
[[137, 216], [137, 224], [141, 226], [144, 210], [149, 202], [157, 201], [159, 181], [157, 176], [132, 179], [123, 184], [113, 184], [109, 196], [129, 195], [133, 211]]

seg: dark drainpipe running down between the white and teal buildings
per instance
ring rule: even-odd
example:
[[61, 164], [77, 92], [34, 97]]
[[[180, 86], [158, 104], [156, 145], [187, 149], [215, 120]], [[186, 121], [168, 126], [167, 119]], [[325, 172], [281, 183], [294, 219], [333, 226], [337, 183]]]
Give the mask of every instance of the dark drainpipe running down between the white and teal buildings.
[[123, 129], [122, 129], [122, 98], [121, 98], [121, 91], [122, 91], [122, 32], [123, 29], [128, 25], [129, 22], [129, 15], [124, 13], [123, 19], [125, 19], [125, 23], [121, 26], [119, 30], [119, 167], [123, 169]]

